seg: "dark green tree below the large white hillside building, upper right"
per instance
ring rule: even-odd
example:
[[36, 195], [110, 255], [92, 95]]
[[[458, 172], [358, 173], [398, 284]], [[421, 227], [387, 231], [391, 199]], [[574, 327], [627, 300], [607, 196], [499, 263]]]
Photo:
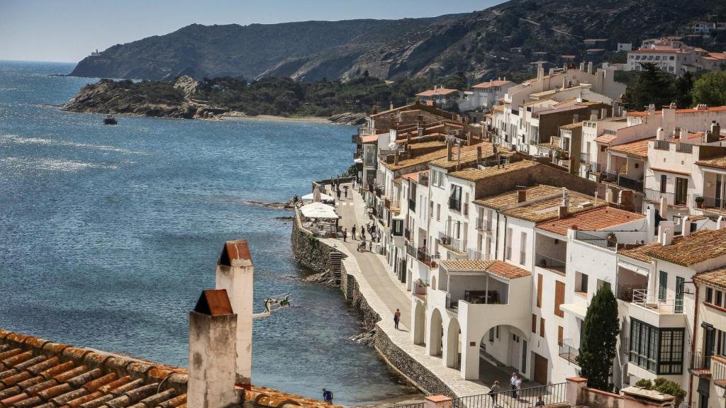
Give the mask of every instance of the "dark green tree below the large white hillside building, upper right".
[[643, 63], [643, 70], [633, 86], [625, 91], [624, 102], [630, 110], [643, 110], [648, 105], [656, 107], [675, 102], [676, 91], [674, 76], [659, 70], [655, 64]]

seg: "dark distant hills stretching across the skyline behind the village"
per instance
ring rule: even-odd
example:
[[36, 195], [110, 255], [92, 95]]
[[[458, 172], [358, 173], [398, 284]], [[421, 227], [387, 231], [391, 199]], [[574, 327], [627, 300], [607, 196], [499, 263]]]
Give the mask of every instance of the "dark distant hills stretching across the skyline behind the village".
[[[118, 44], [78, 62], [71, 76], [168, 79], [289, 76], [298, 81], [375, 76], [489, 79], [563, 54], [600, 62], [618, 42], [677, 33], [719, 15], [713, 0], [510, 0], [460, 15], [403, 20], [189, 25]], [[585, 39], [601, 39], [587, 44]], [[713, 46], [726, 48], [726, 38]], [[708, 49], [706, 44], [703, 45]], [[587, 54], [587, 49], [604, 49]]]

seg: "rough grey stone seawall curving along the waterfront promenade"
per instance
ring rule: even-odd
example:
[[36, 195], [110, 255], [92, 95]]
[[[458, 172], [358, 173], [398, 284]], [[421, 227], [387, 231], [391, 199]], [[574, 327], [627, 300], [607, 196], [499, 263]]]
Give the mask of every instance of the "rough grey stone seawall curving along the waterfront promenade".
[[[409, 383], [415, 385], [423, 393], [428, 395], [456, 396], [455, 393], [422, 364], [417, 362], [410, 354], [401, 349], [392, 335], [408, 337], [407, 332], [392, 332], [389, 334], [387, 328], [381, 323], [380, 313], [388, 313], [388, 309], [372, 288], [367, 285], [360, 272], [355, 257], [348, 253], [346, 248], [335, 245], [336, 240], [318, 239], [301, 227], [299, 216], [295, 216], [291, 240], [293, 242], [293, 257], [303, 266], [331, 277], [332, 266], [330, 264], [330, 252], [339, 251], [343, 253], [343, 261], [340, 265], [340, 291], [353, 308], [364, 330], [375, 330], [375, 349], [393, 370], [399, 372]], [[333, 277], [334, 278], [334, 277]], [[383, 309], [382, 309], [383, 308]], [[378, 310], [378, 311], [377, 311]], [[391, 327], [393, 325], [391, 324]], [[393, 330], [393, 329], [391, 329]], [[403, 340], [405, 341], [405, 340]]]

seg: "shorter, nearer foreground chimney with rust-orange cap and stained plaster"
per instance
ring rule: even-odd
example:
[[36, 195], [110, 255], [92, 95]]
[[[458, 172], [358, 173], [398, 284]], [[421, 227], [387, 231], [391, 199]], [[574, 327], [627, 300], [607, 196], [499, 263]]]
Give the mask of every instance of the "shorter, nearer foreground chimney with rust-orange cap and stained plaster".
[[240, 404], [234, 389], [236, 335], [237, 315], [227, 290], [204, 290], [189, 312], [189, 408]]

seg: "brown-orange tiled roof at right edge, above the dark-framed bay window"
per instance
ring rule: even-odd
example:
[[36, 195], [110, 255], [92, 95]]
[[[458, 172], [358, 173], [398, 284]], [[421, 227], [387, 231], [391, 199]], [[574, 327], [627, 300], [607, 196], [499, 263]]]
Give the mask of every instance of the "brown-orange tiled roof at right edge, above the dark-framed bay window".
[[657, 258], [682, 266], [690, 266], [710, 258], [726, 255], [726, 228], [703, 229], [693, 232], [690, 237], [677, 235], [673, 237], [671, 245], [651, 242], [638, 248], [621, 250], [620, 254], [643, 262], [650, 262], [650, 258]]

